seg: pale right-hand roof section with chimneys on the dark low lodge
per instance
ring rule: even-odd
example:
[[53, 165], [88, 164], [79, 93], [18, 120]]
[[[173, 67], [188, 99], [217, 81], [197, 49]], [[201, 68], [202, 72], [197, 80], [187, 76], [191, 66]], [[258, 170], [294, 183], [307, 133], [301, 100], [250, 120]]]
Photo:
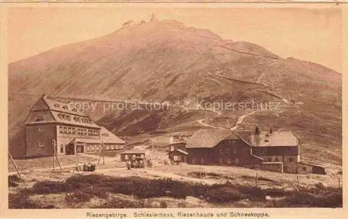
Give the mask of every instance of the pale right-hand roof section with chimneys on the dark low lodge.
[[297, 146], [298, 138], [294, 136], [292, 131], [261, 131], [259, 135], [255, 133], [251, 135], [251, 141], [255, 147], [286, 147]]

